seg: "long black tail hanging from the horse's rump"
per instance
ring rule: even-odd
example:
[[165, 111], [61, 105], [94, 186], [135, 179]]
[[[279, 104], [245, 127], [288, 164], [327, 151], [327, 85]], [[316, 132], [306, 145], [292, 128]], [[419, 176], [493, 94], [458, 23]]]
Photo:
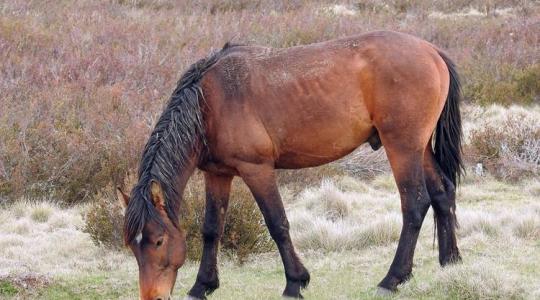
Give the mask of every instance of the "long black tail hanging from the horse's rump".
[[450, 88], [444, 104], [443, 111], [437, 122], [435, 131], [434, 154], [435, 160], [439, 163], [442, 171], [457, 185], [463, 171], [463, 161], [461, 157], [461, 113], [459, 103], [461, 102], [461, 84], [456, 71], [456, 66], [442, 51], [439, 51], [448, 72], [450, 74]]

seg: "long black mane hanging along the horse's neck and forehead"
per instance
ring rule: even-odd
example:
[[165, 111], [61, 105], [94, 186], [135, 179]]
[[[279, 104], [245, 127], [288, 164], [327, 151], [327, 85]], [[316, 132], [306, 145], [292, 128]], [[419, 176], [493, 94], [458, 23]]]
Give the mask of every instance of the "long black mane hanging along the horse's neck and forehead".
[[146, 146], [139, 166], [139, 181], [131, 191], [124, 219], [124, 240], [129, 244], [141, 232], [145, 223], [154, 220], [163, 224], [151, 200], [150, 185], [156, 181], [161, 185], [165, 197], [165, 210], [175, 226], [179, 226], [178, 213], [181, 192], [176, 178], [192, 159], [205, 147], [204, 126], [200, 99], [203, 98], [200, 81], [227, 49], [225, 44], [219, 51], [199, 60], [182, 75], [172, 93], [167, 107], [161, 114]]

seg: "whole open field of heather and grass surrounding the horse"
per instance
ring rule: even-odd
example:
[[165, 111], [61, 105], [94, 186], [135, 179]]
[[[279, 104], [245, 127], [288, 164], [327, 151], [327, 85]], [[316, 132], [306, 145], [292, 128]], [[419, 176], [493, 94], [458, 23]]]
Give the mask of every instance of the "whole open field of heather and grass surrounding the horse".
[[[113, 190], [131, 188], [190, 64], [228, 41], [290, 47], [378, 29], [445, 49], [464, 94], [463, 262], [439, 267], [430, 211], [414, 277], [390, 298], [540, 299], [540, 5], [524, 0], [2, 1], [0, 299], [138, 297]], [[204, 206], [197, 178], [186, 192], [192, 232]], [[229, 222], [264, 229], [236, 185]], [[281, 172], [280, 190], [312, 277], [304, 296], [377, 298], [401, 228], [384, 150], [364, 145], [329, 166]], [[200, 236], [188, 240], [200, 248]], [[211, 299], [280, 299], [279, 255], [261, 245], [224, 247]], [[198, 251], [175, 299], [195, 281]]]

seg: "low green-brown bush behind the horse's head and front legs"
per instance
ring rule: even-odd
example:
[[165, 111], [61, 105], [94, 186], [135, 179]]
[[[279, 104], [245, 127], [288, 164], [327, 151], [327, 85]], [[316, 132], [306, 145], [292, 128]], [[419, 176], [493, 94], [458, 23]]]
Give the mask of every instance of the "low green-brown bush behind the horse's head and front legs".
[[[186, 190], [180, 211], [180, 224], [186, 232], [188, 258], [199, 260], [202, 254], [205, 191], [203, 176], [195, 173]], [[123, 241], [123, 208], [114, 193], [99, 193], [88, 208], [84, 232], [96, 245], [121, 249]], [[240, 263], [250, 254], [273, 250], [274, 243], [255, 200], [247, 187], [235, 180], [231, 191], [221, 249]]]

